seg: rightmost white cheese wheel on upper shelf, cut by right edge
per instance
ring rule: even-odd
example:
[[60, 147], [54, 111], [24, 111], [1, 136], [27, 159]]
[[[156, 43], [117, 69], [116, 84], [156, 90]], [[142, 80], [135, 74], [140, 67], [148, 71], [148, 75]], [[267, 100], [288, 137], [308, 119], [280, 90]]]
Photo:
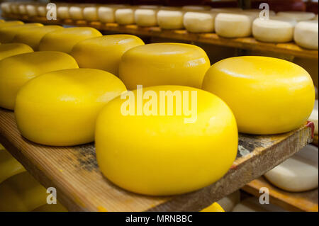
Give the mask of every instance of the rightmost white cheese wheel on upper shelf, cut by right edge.
[[293, 40], [300, 45], [311, 50], [318, 50], [318, 21], [301, 21], [297, 23]]

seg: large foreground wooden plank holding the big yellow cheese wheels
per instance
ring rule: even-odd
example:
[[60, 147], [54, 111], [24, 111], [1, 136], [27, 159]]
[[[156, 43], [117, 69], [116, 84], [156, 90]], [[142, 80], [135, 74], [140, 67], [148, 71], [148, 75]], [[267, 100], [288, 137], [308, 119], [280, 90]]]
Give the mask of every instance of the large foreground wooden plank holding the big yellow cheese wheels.
[[198, 211], [236, 191], [311, 142], [313, 124], [281, 135], [240, 135], [237, 159], [216, 183], [181, 196], [151, 197], [118, 188], [101, 175], [94, 145], [49, 147], [21, 137], [12, 111], [0, 108], [0, 142], [57, 199], [80, 211]]

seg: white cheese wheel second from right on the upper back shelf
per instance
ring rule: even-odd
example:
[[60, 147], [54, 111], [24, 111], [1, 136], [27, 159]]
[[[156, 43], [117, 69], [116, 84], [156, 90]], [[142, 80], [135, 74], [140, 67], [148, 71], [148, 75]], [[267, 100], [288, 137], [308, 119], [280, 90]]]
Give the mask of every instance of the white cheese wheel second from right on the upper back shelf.
[[252, 23], [252, 35], [256, 40], [266, 43], [288, 43], [293, 40], [293, 27], [291, 20], [261, 19], [257, 18]]

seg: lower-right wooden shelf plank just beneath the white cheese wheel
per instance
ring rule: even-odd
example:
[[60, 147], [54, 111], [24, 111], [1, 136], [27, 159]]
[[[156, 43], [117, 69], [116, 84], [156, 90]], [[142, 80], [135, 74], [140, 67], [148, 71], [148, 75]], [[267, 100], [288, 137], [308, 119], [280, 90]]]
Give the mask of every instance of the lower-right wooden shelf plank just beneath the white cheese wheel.
[[247, 183], [242, 190], [259, 197], [259, 189], [262, 187], [269, 189], [270, 202], [285, 210], [318, 212], [318, 188], [306, 192], [288, 192], [273, 186], [264, 177], [259, 177]]

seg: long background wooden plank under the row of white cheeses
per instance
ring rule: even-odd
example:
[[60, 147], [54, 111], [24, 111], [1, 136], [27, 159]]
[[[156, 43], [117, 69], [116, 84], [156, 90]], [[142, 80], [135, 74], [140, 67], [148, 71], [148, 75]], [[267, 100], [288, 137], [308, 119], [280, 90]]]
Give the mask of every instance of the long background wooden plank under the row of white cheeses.
[[70, 26], [91, 26], [99, 30], [113, 31], [116, 33], [130, 33], [133, 35], [146, 35], [161, 38], [173, 38], [198, 43], [208, 43], [228, 47], [237, 47], [245, 50], [259, 50], [263, 52], [277, 52], [296, 57], [318, 59], [318, 50], [307, 50], [295, 43], [262, 43], [252, 37], [247, 38], [221, 38], [216, 33], [189, 33], [186, 30], [162, 30], [159, 27], [139, 27], [136, 25], [120, 26], [117, 23], [100, 23], [72, 20], [47, 21], [46, 18], [16, 15], [4, 15], [4, 18], [21, 19], [40, 23], [64, 24]]

